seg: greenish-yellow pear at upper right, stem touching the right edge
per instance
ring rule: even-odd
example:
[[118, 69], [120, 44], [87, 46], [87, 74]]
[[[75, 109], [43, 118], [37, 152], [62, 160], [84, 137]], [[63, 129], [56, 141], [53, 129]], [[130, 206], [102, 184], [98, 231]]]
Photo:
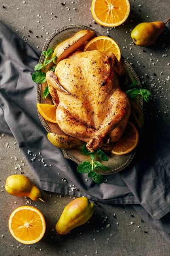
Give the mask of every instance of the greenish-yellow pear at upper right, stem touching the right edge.
[[[167, 20], [167, 22], [169, 20]], [[154, 21], [138, 24], [131, 32], [133, 42], [138, 46], [150, 46], [164, 31], [165, 24], [167, 22], [164, 23], [162, 21]]]

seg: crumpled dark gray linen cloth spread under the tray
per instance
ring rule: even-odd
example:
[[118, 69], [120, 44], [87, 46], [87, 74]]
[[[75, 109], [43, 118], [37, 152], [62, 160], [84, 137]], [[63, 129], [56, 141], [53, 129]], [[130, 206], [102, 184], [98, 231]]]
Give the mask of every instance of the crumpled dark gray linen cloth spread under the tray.
[[[61, 150], [48, 141], [40, 122], [37, 85], [31, 80], [40, 53], [0, 22], [0, 132], [15, 137], [41, 189], [68, 194], [69, 184], [75, 184], [79, 190], [70, 195], [84, 195], [106, 204], [136, 204], [134, 208], [139, 214], [170, 242], [167, 134], [156, 129], [144, 134], [130, 165], [124, 171], [105, 176], [107, 182], [97, 185], [92, 179], [85, 181], [86, 175], [76, 171], [77, 164], [65, 159]], [[35, 159], [33, 154], [37, 155]], [[41, 156], [47, 166], [38, 160]]]

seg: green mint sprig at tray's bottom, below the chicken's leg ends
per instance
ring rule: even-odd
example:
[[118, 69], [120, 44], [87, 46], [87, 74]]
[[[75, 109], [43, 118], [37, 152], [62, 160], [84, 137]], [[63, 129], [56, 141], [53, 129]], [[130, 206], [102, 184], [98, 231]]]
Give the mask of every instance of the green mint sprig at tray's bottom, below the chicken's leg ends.
[[79, 173], [88, 173], [88, 177], [92, 177], [95, 183], [101, 184], [104, 182], [104, 177], [101, 174], [96, 174], [95, 170], [98, 170], [101, 168], [102, 170], [108, 171], [108, 167], [102, 165], [99, 161], [94, 161], [96, 154], [99, 155], [102, 161], [108, 161], [108, 156], [101, 150], [97, 149], [95, 152], [90, 152], [86, 148], [86, 145], [82, 146], [82, 154], [90, 155], [91, 156], [91, 162], [84, 161], [79, 166], [77, 166], [77, 172]]

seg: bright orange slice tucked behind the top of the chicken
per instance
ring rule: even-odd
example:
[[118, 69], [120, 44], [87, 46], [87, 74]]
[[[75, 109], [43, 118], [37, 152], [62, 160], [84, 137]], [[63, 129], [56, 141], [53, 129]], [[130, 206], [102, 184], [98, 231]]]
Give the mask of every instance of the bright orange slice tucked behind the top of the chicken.
[[88, 42], [85, 46], [84, 52], [91, 50], [99, 50], [104, 52], [106, 55], [109, 52], [113, 52], [118, 61], [120, 61], [121, 58], [121, 52], [118, 44], [112, 38], [108, 38], [107, 36], [97, 36]]

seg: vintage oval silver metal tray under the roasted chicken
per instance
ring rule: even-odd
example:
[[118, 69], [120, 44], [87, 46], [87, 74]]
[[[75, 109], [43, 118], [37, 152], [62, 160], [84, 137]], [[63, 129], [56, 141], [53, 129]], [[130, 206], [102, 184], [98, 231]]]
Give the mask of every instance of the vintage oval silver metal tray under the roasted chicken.
[[[50, 37], [47, 39], [45, 42], [45, 45], [42, 49], [42, 51], [46, 51], [48, 48], [54, 48], [57, 44], [61, 43], [65, 39], [71, 37], [75, 33], [77, 33], [79, 30], [82, 29], [88, 29], [88, 30], [93, 30], [87, 26], [82, 26], [82, 25], [71, 25], [71, 26], [65, 26], [61, 29], [58, 29], [57, 31], [53, 32]], [[94, 31], [94, 30], [93, 30]], [[94, 31], [96, 36], [99, 36], [100, 34], [96, 31]], [[39, 63], [43, 63], [44, 61], [44, 55], [41, 55]], [[129, 83], [133, 83], [137, 79], [137, 87], [141, 88], [141, 83], [139, 81], [138, 76], [136, 75], [135, 71], [133, 68], [130, 66], [130, 64], [123, 58], [121, 57], [121, 61], [123, 63], [127, 78], [129, 79]], [[51, 100], [51, 96], [49, 95], [46, 99], [43, 97], [43, 92], [45, 87], [47, 86], [47, 83], [43, 84], [37, 84], [37, 103], [47, 103], [47, 104], [53, 104]], [[139, 96], [136, 98], [136, 103], [139, 105], [139, 107], [142, 109], [143, 106], [143, 99], [142, 96]], [[38, 112], [40, 120], [42, 122], [42, 125], [44, 126], [45, 130], [47, 132], [52, 132], [56, 134], [65, 134], [57, 124], [51, 123], [46, 121]], [[139, 130], [139, 136], [143, 133], [143, 129]], [[61, 148], [62, 153], [65, 158], [71, 159], [77, 164], [82, 163], [85, 160], [90, 159], [89, 156], [84, 156], [81, 154], [81, 151], [78, 150], [65, 150], [64, 148]], [[108, 162], [103, 162], [105, 166], [109, 167], [108, 171], [98, 171], [97, 173], [100, 173], [102, 175], [108, 175], [108, 174], [113, 174], [116, 172], [121, 171], [124, 169], [133, 159], [134, 155], [136, 152], [136, 148], [131, 151], [128, 154], [125, 155], [114, 155], [114, 154], [109, 154], [109, 161]], [[96, 158], [97, 160], [97, 158]], [[99, 160], [99, 159], [98, 159]]]

